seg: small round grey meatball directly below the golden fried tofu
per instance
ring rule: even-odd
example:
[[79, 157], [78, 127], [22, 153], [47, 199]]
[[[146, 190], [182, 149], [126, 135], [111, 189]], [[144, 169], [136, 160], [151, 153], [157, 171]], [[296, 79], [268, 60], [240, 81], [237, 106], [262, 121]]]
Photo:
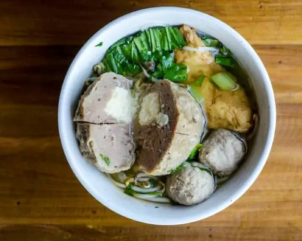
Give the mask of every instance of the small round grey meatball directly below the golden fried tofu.
[[227, 176], [236, 170], [246, 152], [246, 143], [238, 134], [217, 129], [203, 142], [199, 161], [218, 176]]

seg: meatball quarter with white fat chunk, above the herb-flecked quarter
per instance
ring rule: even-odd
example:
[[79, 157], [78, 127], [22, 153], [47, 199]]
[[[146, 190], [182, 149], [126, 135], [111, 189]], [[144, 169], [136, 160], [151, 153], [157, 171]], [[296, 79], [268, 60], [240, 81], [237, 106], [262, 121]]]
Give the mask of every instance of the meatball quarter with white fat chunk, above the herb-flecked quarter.
[[130, 123], [132, 121], [132, 81], [122, 75], [102, 74], [81, 96], [74, 121]]

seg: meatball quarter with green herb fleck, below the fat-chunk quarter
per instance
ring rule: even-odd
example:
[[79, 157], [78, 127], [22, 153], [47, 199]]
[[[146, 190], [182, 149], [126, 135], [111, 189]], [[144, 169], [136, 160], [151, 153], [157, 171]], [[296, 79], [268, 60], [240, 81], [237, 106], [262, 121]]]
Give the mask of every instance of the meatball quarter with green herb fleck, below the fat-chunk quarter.
[[76, 138], [84, 158], [102, 172], [130, 169], [135, 161], [129, 124], [76, 123]]

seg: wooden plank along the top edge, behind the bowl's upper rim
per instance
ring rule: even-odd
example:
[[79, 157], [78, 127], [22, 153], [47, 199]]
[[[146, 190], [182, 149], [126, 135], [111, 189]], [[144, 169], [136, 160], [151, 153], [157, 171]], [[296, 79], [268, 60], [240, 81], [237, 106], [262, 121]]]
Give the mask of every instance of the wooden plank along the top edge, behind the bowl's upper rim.
[[2, 0], [0, 46], [83, 44], [113, 19], [154, 6], [211, 14], [252, 44], [302, 43], [301, 0]]

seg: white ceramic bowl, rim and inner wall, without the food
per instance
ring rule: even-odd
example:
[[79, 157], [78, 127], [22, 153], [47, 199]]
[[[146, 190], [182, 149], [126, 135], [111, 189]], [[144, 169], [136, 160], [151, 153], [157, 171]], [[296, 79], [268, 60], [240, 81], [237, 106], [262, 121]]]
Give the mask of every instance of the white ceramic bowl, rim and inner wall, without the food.
[[[243, 165], [208, 200], [194, 206], [168, 206], [140, 201], [125, 195], [93, 166], [86, 162], [75, 136], [73, 116], [85, 79], [106, 50], [118, 39], [154, 26], [187, 24], [198, 32], [212, 35], [229, 48], [246, 69], [259, 103], [260, 123], [254, 146]], [[99, 42], [102, 47], [95, 47]], [[269, 155], [276, 124], [274, 94], [263, 63], [251, 45], [235, 30], [205, 13], [186, 8], [156, 7], [122, 16], [94, 34], [77, 53], [60, 94], [59, 132], [66, 158], [76, 177], [100, 203], [116, 213], [144, 223], [185, 224], [225, 209], [243, 195], [262, 171]], [[155, 206], [159, 208], [154, 208]]]

